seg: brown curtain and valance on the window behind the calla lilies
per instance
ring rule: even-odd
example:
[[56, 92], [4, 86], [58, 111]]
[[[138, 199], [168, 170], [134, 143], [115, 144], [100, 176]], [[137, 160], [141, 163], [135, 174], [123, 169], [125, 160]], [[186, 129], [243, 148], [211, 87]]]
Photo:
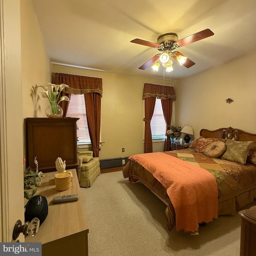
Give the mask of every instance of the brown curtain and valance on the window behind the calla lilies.
[[[63, 95], [66, 95], [70, 98], [71, 94], [84, 94], [93, 156], [98, 157], [100, 150], [102, 78], [63, 73], [54, 73], [53, 77], [54, 84], [67, 84], [69, 86], [65, 89]], [[65, 113], [64, 116], [66, 116], [68, 104], [69, 102], [62, 101], [61, 107]]]

